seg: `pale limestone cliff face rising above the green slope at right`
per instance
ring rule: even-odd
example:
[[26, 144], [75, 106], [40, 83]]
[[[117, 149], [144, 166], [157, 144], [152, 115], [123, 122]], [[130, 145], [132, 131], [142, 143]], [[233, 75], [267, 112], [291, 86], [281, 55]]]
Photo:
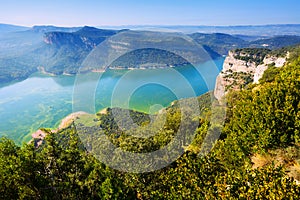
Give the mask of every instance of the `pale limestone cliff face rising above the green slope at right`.
[[[259, 83], [265, 70], [270, 66], [282, 67], [286, 57], [271, 55], [266, 50], [264, 53], [254, 50], [230, 51], [226, 57], [223, 69], [216, 80], [214, 95], [220, 100], [230, 89], [238, 90], [249, 83]], [[259, 50], [256, 50], [259, 51]]]

